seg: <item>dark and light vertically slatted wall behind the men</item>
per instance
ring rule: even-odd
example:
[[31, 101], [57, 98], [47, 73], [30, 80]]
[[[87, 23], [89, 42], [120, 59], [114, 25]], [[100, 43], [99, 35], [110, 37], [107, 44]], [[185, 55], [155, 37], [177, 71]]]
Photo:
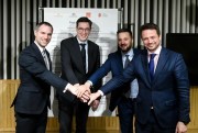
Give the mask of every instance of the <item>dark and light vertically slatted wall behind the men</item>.
[[160, 25], [163, 45], [166, 33], [198, 33], [198, 0], [1, 0], [0, 79], [19, 78], [18, 57], [33, 41], [40, 8], [119, 9], [119, 25], [133, 31], [135, 47], [142, 47], [139, 27], [146, 22]]

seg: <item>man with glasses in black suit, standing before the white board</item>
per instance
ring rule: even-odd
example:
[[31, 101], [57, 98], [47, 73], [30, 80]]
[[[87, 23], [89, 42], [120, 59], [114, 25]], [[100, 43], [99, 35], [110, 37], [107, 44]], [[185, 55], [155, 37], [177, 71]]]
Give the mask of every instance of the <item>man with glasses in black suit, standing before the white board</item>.
[[[82, 85], [88, 77], [100, 67], [99, 46], [88, 40], [92, 22], [79, 18], [76, 22], [77, 35], [61, 42], [62, 78], [73, 85]], [[100, 87], [96, 85], [94, 89]], [[90, 90], [89, 90], [90, 91]], [[95, 90], [91, 90], [95, 91]], [[76, 114], [76, 133], [86, 133], [89, 106], [79, 99], [67, 102], [62, 95], [57, 96], [59, 107], [59, 133], [72, 133], [74, 112]], [[97, 108], [99, 100], [95, 100], [92, 108]]]

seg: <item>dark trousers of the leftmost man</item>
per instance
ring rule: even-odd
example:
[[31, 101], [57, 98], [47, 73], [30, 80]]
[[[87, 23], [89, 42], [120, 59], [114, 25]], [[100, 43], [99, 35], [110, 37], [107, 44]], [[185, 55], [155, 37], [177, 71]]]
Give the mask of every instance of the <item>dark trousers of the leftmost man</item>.
[[25, 114], [15, 112], [15, 133], [45, 133], [47, 123], [47, 108], [41, 114]]

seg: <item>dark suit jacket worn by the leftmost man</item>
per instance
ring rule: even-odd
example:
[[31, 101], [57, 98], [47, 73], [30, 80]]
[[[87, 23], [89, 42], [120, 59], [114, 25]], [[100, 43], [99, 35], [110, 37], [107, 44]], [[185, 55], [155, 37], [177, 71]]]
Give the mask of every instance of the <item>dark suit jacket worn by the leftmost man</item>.
[[[46, 54], [50, 59], [48, 52]], [[51, 60], [50, 64], [52, 68]], [[43, 56], [34, 43], [22, 51], [19, 66], [21, 84], [12, 106], [14, 104], [14, 110], [20, 113], [40, 114], [46, 106], [50, 107], [51, 85], [57, 88], [57, 92], [63, 93], [68, 82], [47, 70]]]

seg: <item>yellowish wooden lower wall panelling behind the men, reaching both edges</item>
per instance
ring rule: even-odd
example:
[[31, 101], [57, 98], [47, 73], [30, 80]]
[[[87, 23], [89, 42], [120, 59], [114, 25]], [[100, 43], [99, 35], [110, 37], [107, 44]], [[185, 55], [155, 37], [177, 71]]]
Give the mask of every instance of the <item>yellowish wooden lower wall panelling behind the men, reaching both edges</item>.
[[[14, 111], [10, 108], [16, 93], [19, 80], [0, 80], [0, 132], [14, 131]], [[190, 88], [190, 118], [188, 133], [198, 133], [198, 87]], [[75, 121], [73, 123], [73, 131]], [[90, 117], [87, 123], [88, 133], [119, 133], [119, 121], [117, 117]], [[47, 131], [58, 133], [57, 118], [48, 118]]]

